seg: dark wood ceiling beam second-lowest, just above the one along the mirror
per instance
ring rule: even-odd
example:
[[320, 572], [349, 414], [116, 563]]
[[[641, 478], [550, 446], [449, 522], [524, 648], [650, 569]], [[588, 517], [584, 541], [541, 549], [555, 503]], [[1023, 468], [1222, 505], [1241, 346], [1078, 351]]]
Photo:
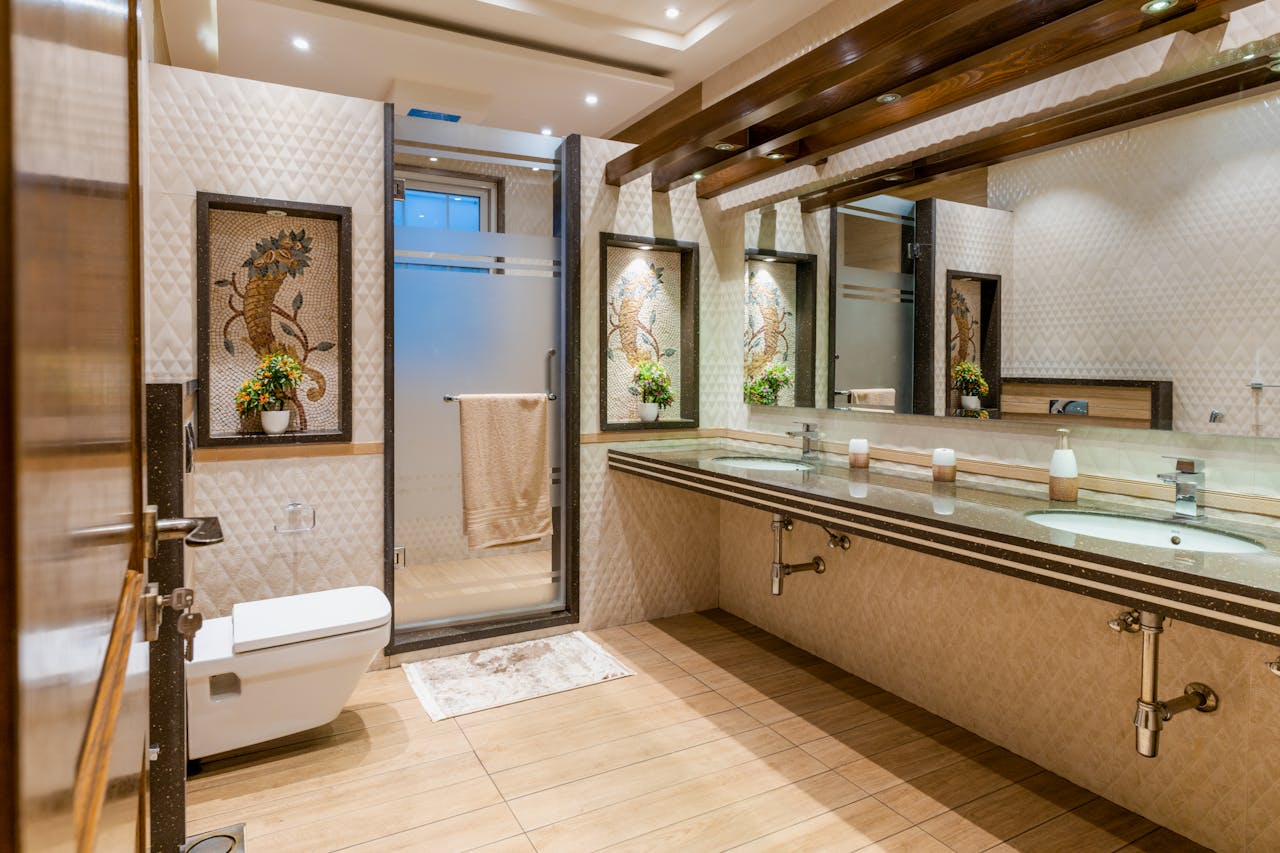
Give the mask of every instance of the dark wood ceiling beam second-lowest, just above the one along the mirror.
[[[1234, 9], [1256, 1], [1180, 3], [1158, 17], [1144, 14], [1133, 0], [1094, 3], [1088, 9], [900, 86], [895, 91], [902, 97], [893, 104], [870, 99], [833, 113], [809, 109], [780, 114], [767, 124], [753, 128], [760, 140], [759, 147], [736, 151], [716, 163], [699, 161], [704, 179], [698, 195], [710, 199], [1169, 33], [1197, 32], [1216, 26], [1225, 22]], [[801, 154], [773, 163], [771, 169], [748, 165], [774, 145], [797, 145]], [[655, 173], [654, 188], [662, 188], [663, 178], [675, 177], [676, 168]]]

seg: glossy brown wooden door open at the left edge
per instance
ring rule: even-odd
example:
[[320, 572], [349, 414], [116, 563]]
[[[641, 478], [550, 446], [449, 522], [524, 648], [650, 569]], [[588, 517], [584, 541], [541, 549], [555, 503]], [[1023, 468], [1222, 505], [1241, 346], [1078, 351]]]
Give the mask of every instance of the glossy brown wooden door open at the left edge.
[[147, 712], [136, 8], [0, 0], [0, 849], [129, 850]]

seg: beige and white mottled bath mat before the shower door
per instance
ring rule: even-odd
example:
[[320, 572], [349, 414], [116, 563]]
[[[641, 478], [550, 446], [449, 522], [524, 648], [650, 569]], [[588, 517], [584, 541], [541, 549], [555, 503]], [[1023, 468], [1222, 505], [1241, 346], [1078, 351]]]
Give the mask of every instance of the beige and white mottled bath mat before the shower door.
[[635, 675], [581, 631], [401, 669], [433, 720]]

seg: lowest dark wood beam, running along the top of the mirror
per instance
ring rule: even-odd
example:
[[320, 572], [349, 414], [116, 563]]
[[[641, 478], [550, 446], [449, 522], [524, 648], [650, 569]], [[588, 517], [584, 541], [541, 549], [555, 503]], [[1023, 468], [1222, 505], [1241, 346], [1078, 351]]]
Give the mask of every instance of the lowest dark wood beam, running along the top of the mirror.
[[804, 213], [813, 213], [881, 192], [892, 192], [934, 178], [1082, 142], [1125, 127], [1257, 95], [1267, 88], [1280, 88], [1280, 70], [1272, 68], [1275, 64], [1275, 59], [1268, 55], [1257, 56], [1088, 106], [1064, 109], [1029, 124], [1010, 123], [982, 140], [801, 196], [800, 209]]

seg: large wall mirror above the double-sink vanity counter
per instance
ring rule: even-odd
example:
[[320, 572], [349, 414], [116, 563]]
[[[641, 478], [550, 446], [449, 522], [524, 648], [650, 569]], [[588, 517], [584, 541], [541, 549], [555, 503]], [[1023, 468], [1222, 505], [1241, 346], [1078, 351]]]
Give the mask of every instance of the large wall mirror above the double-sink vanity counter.
[[[1280, 435], [1277, 108], [1235, 99], [809, 214], [831, 229], [815, 403]], [[984, 374], [977, 409], [957, 361]]]

